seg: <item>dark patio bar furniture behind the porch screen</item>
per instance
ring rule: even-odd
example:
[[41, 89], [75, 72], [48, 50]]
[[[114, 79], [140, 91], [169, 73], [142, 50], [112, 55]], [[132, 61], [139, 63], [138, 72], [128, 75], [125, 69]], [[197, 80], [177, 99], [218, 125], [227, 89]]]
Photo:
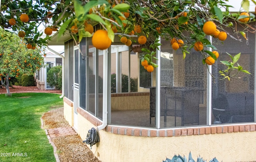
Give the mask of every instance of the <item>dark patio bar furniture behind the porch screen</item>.
[[[150, 124], [151, 118], [156, 117], [156, 88], [150, 88]], [[177, 117], [181, 118], [181, 126], [199, 124], [200, 90], [185, 87], [161, 87], [160, 116], [174, 116], [174, 126]]]

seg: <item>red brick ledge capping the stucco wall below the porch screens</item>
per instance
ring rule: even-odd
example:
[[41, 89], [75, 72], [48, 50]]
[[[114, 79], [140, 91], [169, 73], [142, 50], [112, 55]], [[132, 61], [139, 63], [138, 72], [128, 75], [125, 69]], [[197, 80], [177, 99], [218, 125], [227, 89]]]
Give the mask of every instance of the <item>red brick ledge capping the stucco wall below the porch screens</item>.
[[[102, 124], [98, 118], [92, 116], [82, 108], [78, 108], [77, 112], [82, 115], [86, 120], [91, 122], [94, 126]], [[104, 131], [120, 134], [126, 136], [142, 136], [142, 137], [172, 137], [172, 136], [191, 136], [202, 134], [219, 134], [219, 133], [232, 133], [232, 132], [252, 132], [256, 131], [256, 124], [232, 124], [225, 126], [198, 126], [197, 128], [170, 128], [170, 129], [156, 129], [154, 128], [129, 128], [107, 125]]]

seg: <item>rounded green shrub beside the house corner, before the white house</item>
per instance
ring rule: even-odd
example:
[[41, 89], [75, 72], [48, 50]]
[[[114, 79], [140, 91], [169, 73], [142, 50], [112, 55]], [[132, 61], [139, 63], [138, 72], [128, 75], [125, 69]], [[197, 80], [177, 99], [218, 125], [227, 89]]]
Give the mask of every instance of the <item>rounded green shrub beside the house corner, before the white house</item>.
[[48, 70], [47, 82], [56, 90], [62, 90], [62, 66], [54, 66]]

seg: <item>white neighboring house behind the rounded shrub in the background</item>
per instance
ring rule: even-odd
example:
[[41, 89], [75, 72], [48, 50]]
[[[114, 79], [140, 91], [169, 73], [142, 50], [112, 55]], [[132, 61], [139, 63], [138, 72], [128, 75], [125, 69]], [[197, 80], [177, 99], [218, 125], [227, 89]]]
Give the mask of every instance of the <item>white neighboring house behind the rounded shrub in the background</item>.
[[[60, 55], [64, 56], [64, 51], [59, 52]], [[46, 65], [44, 68], [36, 71], [35, 78], [36, 78], [36, 86], [39, 89], [47, 90], [47, 89], [54, 89], [47, 83], [47, 72], [50, 68], [54, 66], [62, 66], [62, 57], [55, 54], [53, 52], [46, 52], [46, 56], [44, 57], [44, 64]]]

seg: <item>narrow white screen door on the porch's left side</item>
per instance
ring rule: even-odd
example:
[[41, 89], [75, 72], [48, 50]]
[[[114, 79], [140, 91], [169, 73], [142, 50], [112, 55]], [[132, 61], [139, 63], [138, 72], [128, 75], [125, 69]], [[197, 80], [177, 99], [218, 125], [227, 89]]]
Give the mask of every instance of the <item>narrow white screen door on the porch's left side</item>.
[[74, 48], [74, 128], [78, 126], [77, 108], [79, 106], [79, 50]]

